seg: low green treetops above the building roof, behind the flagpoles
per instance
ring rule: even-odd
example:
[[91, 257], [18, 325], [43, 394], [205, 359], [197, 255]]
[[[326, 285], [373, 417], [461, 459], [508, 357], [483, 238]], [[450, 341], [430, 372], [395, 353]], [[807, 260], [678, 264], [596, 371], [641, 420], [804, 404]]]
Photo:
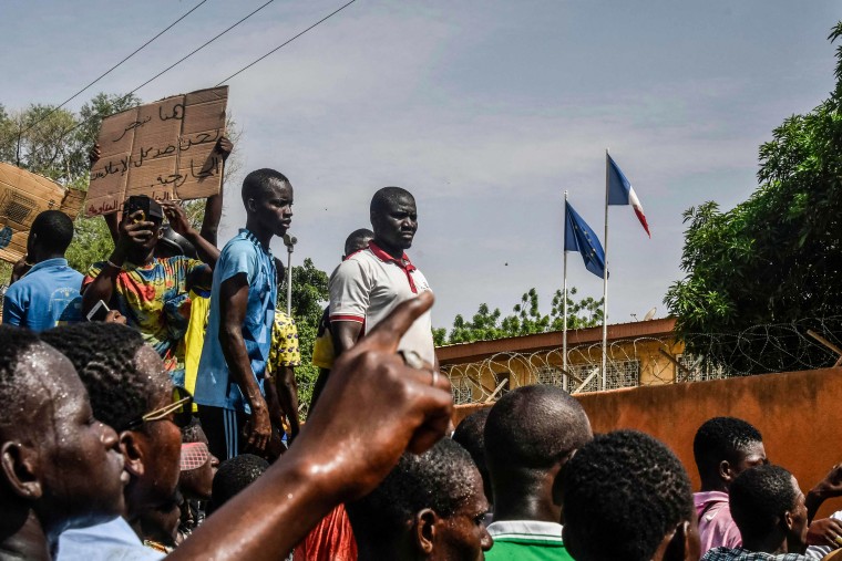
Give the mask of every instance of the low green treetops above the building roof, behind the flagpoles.
[[[600, 325], [603, 322], [602, 299], [585, 298], [574, 301], [571, 297], [575, 294], [575, 288], [567, 292], [567, 329]], [[521, 302], [515, 304], [513, 312], [502, 318], [503, 314], [499, 308], [491, 311], [487, 304], [480, 304], [471, 321], [465, 321], [461, 314], [455, 316], [450, 336], [445, 329], [434, 329], [433, 341], [437, 345], [470, 343], [561, 331], [564, 328], [564, 297], [561, 290], [556, 290], [553, 295], [548, 314], [541, 313], [538, 293], [534, 288], [521, 297]]]

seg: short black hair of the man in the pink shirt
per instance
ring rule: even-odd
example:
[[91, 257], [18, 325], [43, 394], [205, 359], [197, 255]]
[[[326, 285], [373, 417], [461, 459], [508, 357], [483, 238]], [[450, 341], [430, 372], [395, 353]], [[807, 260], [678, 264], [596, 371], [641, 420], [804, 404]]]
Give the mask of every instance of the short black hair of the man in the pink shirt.
[[692, 456], [702, 480], [719, 478], [719, 464], [739, 461], [749, 446], [763, 436], [751, 424], [736, 417], [713, 417], [699, 427], [692, 439]]

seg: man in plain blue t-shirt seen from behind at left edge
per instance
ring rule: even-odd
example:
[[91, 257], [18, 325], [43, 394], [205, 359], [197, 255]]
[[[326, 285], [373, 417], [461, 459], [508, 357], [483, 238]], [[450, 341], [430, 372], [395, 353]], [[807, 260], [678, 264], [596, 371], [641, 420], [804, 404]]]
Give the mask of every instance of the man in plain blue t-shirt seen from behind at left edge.
[[73, 220], [64, 212], [44, 210], [35, 217], [25, 258], [33, 266], [6, 291], [3, 323], [44, 331], [82, 320], [83, 276], [64, 259], [72, 239]]

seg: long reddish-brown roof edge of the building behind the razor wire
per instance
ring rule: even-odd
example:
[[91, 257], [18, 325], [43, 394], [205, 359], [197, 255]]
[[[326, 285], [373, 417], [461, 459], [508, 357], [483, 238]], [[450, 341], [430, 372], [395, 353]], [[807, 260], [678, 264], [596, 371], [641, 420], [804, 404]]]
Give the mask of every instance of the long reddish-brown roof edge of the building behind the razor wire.
[[[675, 318], [660, 320], [635, 321], [628, 323], [615, 323], [608, 325], [608, 341], [637, 337], [659, 337], [671, 335], [676, 325]], [[435, 350], [439, 363], [463, 364], [478, 362], [493, 356], [496, 353], [533, 353], [536, 351], [550, 351], [562, 347], [563, 334], [561, 331], [535, 333], [533, 335], [520, 335], [514, 337], [495, 339], [492, 341], [474, 341], [473, 343], [456, 343], [440, 346]], [[587, 328], [582, 330], [567, 330], [567, 346], [591, 344], [603, 340], [603, 328]]]

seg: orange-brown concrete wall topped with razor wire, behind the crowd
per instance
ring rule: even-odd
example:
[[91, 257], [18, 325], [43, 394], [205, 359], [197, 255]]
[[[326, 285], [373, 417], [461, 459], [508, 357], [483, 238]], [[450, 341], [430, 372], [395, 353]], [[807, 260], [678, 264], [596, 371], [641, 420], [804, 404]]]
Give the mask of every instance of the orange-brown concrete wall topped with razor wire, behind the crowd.
[[[666, 443], [698, 489], [692, 459], [696, 429], [708, 418], [740, 417], [763, 434], [770, 461], [807, 492], [842, 461], [842, 368], [737, 377], [579, 394], [595, 433], [635, 428]], [[483, 405], [460, 406], [454, 423]], [[825, 502], [820, 515], [842, 509]]]

